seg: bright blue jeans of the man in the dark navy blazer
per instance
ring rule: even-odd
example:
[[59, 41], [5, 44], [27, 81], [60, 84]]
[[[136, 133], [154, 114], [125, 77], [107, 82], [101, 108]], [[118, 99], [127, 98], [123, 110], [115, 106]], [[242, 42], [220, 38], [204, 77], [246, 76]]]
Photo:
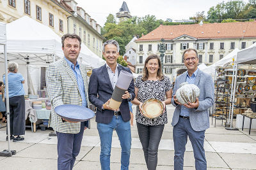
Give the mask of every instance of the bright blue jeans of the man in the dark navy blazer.
[[113, 116], [109, 124], [97, 124], [100, 136], [100, 165], [102, 170], [110, 169], [110, 153], [112, 144], [113, 130], [116, 130], [121, 152], [121, 169], [129, 169], [129, 160], [131, 153], [131, 125], [130, 121], [124, 122], [121, 116]]

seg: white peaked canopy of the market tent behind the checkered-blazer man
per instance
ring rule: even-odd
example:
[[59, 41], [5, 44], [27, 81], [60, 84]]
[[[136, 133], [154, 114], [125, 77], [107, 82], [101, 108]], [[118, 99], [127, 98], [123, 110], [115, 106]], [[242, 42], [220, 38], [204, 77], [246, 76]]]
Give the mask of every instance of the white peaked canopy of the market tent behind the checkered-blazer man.
[[[61, 38], [52, 29], [29, 18], [21, 17], [6, 25], [8, 60], [22, 60], [29, 64], [47, 65], [63, 57]], [[3, 49], [0, 49], [3, 52]], [[79, 58], [87, 67], [99, 67], [104, 60], [91, 52], [83, 43]], [[0, 59], [3, 56], [0, 55]]]

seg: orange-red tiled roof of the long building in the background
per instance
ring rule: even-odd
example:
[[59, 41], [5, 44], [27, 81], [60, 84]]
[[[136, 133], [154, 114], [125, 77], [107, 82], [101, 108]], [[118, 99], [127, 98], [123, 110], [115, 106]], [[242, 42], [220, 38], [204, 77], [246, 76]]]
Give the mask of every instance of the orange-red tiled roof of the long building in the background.
[[256, 22], [160, 25], [136, 41], [175, 39], [184, 34], [197, 39], [256, 37]]

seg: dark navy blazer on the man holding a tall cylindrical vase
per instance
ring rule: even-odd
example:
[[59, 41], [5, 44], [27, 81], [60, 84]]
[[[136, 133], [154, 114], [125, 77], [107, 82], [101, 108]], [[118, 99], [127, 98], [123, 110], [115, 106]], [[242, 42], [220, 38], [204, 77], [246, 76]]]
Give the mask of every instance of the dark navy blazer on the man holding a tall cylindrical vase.
[[[128, 67], [123, 67], [118, 64], [118, 75], [121, 70], [128, 71], [131, 73]], [[97, 69], [92, 70], [92, 75], [90, 76], [90, 82], [88, 87], [89, 101], [94, 106], [96, 106], [96, 122], [102, 124], [109, 124], [113, 118], [113, 110], [102, 110], [102, 105], [111, 98], [113, 94], [113, 87], [111, 85], [108, 70], [106, 64]], [[132, 80], [128, 92], [131, 94], [131, 101], [134, 99], [134, 81]], [[128, 99], [123, 99], [119, 110], [121, 111], [122, 118], [124, 122], [128, 122], [131, 119]]]

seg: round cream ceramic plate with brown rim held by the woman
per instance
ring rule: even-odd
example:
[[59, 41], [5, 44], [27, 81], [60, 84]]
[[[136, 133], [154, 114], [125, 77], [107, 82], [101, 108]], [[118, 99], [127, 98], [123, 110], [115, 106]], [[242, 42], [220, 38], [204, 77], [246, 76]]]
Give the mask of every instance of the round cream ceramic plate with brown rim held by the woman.
[[157, 118], [163, 114], [164, 106], [157, 99], [148, 99], [142, 104], [142, 113], [147, 118]]

